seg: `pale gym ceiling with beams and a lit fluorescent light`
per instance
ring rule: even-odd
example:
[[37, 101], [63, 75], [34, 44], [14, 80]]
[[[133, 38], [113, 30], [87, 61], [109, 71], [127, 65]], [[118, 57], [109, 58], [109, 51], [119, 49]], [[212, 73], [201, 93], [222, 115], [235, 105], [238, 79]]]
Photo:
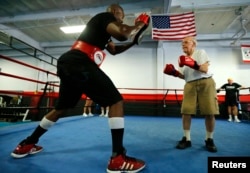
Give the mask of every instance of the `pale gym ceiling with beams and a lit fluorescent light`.
[[[194, 11], [198, 40], [230, 40], [231, 44], [250, 40], [250, 0], [1, 0], [0, 53], [8, 50], [9, 36], [45, 52], [69, 47], [79, 34], [66, 35], [59, 27], [85, 24], [112, 3], [124, 8], [127, 24], [142, 12]], [[144, 41], [154, 41], [151, 28]]]

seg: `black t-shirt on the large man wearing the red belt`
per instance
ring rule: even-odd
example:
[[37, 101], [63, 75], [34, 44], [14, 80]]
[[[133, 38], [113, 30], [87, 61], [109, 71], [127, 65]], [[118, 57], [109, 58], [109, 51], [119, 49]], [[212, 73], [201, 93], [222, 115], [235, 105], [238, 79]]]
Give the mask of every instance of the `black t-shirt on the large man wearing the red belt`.
[[116, 21], [112, 13], [103, 12], [95, 15], [87, 23], [86, 28], [77, 40], [87, 42], [100, 49], [105, 49], [111, 35], [106, 31], [107, 25]]

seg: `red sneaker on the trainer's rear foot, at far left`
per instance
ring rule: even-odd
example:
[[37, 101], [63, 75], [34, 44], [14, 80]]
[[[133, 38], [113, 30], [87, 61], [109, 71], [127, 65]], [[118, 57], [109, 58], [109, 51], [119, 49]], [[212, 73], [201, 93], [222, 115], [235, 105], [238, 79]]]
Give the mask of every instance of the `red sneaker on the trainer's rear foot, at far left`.
[[28, 154], [36, 154], [43, 150], [43, 147], [37, 146], [35, 144], [24, 144], [18, 145], [15, 150], [11, 153], [14, 158], [23, 158]]

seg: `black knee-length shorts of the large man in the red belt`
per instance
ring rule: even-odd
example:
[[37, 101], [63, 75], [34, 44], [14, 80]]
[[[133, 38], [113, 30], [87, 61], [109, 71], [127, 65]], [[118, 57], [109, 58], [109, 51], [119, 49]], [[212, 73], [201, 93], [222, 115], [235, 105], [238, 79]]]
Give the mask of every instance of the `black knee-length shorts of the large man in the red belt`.
[[82, 94], [101, 106], [111, 106], [123, 99], [111, 79], [78, 50], [66, 52], [59, 58], [57, 74], [60, 89], [56, 109], [73, 108]]

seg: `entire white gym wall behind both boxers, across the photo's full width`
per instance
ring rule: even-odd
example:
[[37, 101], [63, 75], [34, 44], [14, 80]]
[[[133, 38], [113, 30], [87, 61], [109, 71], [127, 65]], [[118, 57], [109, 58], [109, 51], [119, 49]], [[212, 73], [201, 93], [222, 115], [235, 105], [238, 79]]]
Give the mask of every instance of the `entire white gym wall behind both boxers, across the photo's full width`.
[[[250, 86], [250, 63], [243, 63], [240, 46], [232, 47], [225, 41], [198, 42], [198, 49], [205, 49], [210, 56], [211, 70], [217, 87], [232, 77], [243, 86]], [[117, 88], [139, 89], [182, 89], [184, 80], [163, 74], [166, 63], [178, 67], [177, 59], [182, 54], [180, 42], [152, 42], [134, 46], [127, 52], [112, 56], [107, 53], [101, 68], [110, 76]], [[33, 58], [19, 58], [19, 61], [56, 73], [50, 66]], [[33, 78], [35, 80], [59, 80], [57, 77], [0, 59], [2, 72]], [[0, 90], [36, 90], [43, 85], [0, 76]], [[165, 93], [165, 91], [121, 90], [122, 93]], [[249, 93], [248, 90], [242, 93]]]

